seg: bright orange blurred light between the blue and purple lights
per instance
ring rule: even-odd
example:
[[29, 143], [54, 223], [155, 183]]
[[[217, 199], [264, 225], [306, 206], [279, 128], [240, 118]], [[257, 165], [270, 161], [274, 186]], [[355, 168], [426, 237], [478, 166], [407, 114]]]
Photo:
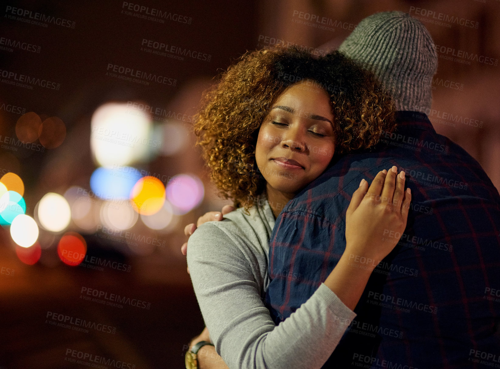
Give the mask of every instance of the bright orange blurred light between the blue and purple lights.
[[144, 215], [152, 215], [157, 213], [165, 202], [165, 187], [156, 177], [143, 177], [130, 191], [130, 200], [135, 211]]

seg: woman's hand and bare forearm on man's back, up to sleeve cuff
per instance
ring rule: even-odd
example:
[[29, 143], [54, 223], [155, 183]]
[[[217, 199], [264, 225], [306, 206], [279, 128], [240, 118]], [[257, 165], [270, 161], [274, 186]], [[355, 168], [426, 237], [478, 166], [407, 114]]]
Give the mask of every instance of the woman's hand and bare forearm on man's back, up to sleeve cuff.
[[345, 219], [345, 251], [324, 284], [354, 310], [368, 279], [390, 253], [408, 218], [411, 193], [404, 191], [404, 172], [394, 166], [379, 172], [371, 186], [363, 179], [352, 194]]

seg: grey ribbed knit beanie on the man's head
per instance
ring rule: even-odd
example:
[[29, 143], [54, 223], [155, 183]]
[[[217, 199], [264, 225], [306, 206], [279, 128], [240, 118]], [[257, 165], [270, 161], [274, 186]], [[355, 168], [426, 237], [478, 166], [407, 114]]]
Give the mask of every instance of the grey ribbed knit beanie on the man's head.
[[380, 79], [392, 94], [396, 110], [428, 114], [437, 55], [432, 37], [418, 20], [402, 11], [370, 15], [359, 22], [338, 51]]

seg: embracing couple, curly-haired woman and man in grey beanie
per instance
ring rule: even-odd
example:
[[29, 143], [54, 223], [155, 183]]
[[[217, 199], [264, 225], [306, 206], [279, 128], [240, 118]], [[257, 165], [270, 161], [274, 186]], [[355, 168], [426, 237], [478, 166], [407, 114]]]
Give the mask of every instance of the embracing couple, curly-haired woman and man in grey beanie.
[[325, 56], [247, 52], [206, 92], [197, 145], [236, 209], [185, 229], [206, 324], [186, 368], [500, 360], [500, 197], [425, 114], [436, 68], [425, 27], [382, 12]]

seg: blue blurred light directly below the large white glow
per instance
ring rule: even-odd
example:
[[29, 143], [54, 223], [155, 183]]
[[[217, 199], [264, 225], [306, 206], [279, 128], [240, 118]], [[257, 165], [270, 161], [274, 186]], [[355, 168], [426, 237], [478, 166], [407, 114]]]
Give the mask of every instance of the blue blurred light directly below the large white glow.
[[104, 200], [128, 199], [140, 177], [140, 172], [131, 167], [99, 167], [90, 176], [90, 188], [95, 196]]

